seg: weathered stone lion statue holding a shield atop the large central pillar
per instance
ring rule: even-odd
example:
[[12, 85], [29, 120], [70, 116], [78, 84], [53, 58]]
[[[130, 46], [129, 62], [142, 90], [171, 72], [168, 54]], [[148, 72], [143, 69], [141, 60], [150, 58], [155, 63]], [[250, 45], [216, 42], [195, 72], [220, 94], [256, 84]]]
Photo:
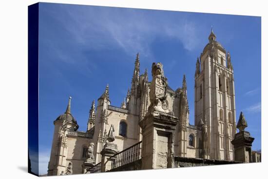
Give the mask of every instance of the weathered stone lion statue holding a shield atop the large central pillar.
[[150, 101], [148, 112], [159, 111], [163, 113], [171, 113], [168, 110], [167, 87], [168, 79], [164, 76], [162, 63], [153, 63], [152, 65], [153, 80], [150, 88]]

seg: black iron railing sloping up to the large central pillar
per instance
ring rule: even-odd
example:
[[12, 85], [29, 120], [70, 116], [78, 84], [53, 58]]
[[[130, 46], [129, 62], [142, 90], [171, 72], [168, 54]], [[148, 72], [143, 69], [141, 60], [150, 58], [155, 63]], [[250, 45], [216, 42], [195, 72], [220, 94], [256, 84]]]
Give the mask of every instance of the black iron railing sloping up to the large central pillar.
[[109, 160], [112, 161], [111, 169], [114, 169], [138, 159], [141, 159], [141, 141], [115, 154]]

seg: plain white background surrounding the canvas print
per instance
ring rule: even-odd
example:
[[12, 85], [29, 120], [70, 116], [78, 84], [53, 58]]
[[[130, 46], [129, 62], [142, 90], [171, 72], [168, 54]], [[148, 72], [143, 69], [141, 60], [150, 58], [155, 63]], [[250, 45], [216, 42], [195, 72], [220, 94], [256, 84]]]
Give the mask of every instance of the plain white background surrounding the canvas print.
[[[0, 178], [32, 179], [27, 173], [27, 6], [36, 0], [0, 1]], [[265, 0], [47, 0], [47, 2], [236, 14], [262, 17], [262, 163], [174, 168], [92, 175], [68, 179], [107, 178], [265, 178], [267, 173], [268, 13]], [[243, 45], [243, 44], [242, 44]], [[254, 59], [252, 59], [253, 61]], [[266, 129], [266, 130], [265, 130]], [[266, 165], [266, 166], [265, 166]], [[51, 179], [58, 177], [50, 177]]]

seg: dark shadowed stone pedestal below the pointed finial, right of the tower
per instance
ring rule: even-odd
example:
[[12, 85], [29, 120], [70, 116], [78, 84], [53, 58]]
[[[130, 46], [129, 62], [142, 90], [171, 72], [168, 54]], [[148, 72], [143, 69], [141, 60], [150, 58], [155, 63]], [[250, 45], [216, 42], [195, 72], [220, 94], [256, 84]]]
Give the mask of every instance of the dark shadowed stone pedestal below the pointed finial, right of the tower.
[[235, 161], [252, 162], [251, 144], [253, 140], [254, 138], [247, 131], [240, 131], [235, 134], [234, 139], [231, 141]]

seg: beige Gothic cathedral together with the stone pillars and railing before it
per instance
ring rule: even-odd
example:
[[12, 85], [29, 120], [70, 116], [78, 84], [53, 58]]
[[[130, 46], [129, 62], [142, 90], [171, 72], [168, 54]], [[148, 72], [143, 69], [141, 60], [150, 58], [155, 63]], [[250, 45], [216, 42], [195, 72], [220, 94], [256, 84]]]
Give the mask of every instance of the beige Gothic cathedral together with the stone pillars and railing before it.
[[186, 77], [173, 90], [165, 67], [153, 63], [149, 81], [147, 70], [140, 73], [137, 54], [131, 88], [121, 106], [112, 105], [107, 85], [92, 101], [87, 131], [78, 131], [69, 98], [65, 113], [54, 121], [48, 175], [173, 168], [186, 161], [189, 166], [259, 161], [251, 152], [254, 138], [244, 130], [243, 113], [236, 125], [230, 53], [212, 29], [208, 40], [195, 64], [194, 125], [189, 123]]

